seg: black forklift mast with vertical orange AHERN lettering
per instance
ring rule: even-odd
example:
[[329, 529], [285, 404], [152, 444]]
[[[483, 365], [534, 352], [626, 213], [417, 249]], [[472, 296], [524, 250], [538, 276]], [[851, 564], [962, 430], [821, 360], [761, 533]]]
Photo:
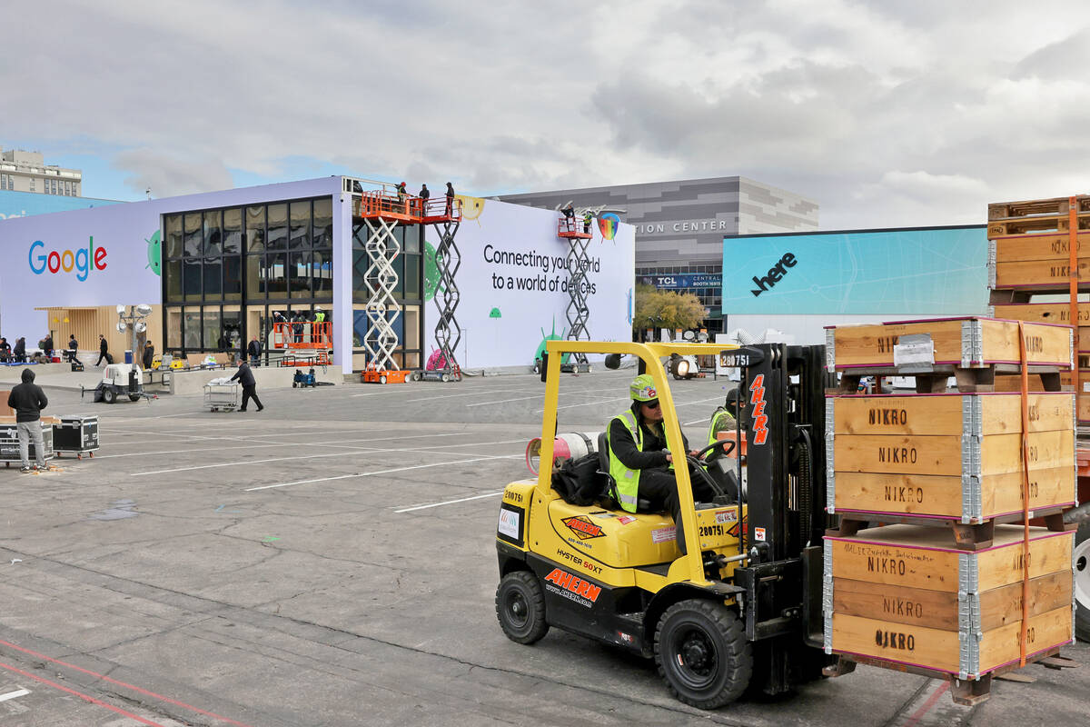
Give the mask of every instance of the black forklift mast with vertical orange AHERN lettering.
[[741, 371], [749, 562], [742, 621], [754, 642], [754, 687], [787, 691], [824, 663], [825, 347], [764, 343], [731, 351]]

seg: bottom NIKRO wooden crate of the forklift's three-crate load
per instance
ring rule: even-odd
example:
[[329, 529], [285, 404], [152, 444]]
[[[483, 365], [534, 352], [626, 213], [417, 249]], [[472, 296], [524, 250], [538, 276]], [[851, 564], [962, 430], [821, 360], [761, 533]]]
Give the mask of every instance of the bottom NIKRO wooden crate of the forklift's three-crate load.
[[[1030, 529], [1027, 654], [1070, 643], [1074, 533]], [[825, 538], [825, 651], [977, 679], [1019, 657], [1022, 529], [966, 553], [945, 531], [887, 525]], [[1013, 587], [1012, 587], [1013, 586]]]

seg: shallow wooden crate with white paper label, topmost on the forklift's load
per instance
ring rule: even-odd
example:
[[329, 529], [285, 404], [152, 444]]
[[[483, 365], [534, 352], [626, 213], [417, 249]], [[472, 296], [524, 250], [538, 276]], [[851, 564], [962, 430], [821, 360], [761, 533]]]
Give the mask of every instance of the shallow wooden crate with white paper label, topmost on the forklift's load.
[[[1071, 329], [1050, 324], [1025, 324], [1027, 361], [1030, 365], [1073, 365]], [[909, 356], [907, 336], [917, 344]], [[936, 318], [858, 326], [832, 326], [825, 330], [826, 365], [829, 369], [852, 367], [889, 368], [900, 373], [918, 368], [920, 343], [932, 348], [933, 365], [961, 367], [995, 363], [1019, 363], [1018, 324], [994, 318]], [[911, 361], [909, 361], [911, 359]], [[924, 364], [925, 365], [925, 364]]]

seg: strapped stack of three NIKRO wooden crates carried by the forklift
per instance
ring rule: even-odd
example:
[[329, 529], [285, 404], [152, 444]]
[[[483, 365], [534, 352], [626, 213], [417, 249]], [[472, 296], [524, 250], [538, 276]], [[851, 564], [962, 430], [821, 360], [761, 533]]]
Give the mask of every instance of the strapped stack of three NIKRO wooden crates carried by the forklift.
[[[824, 638], [841, 663], [947, 677], [956, 701], [976, 703], [1020, 662], [1024, 579], [1027, 657], [1070, 643], [1075, 401], [1058, 389], [1071, 329], [1022, 334], [1028, 369], [1052, 389], [1027, 396], [1028, 486], [1022, 395], [995, 391], [1020, 380], [1017, 322], [828, 329], [840, 390], [826, 400], [827, 509], [840, 526], [825, 538]], [[917, 393], [853, 393], [862, 376], [912, 376]], [[1028, 573], [1024, 526], [1002, 524], [1027, 511], [1046, 524], [1029, 529]]]

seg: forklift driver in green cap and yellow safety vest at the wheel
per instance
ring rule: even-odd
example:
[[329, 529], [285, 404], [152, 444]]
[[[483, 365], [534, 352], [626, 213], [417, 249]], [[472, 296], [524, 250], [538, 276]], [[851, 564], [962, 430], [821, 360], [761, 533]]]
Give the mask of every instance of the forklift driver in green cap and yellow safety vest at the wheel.
[[[638, 498], [646, 499], [653, 509], [670, 511], [677, 528], [677, 543], [686, 553], [678, 485], [674, 476], [674, 457], [667, 450], [663, 429], [663, 411], [654, 380], [641, 374], [630, 387], [632, 405], [609, 421], [606, 443], [609, 447], [609, 475], [617, 483], [617, 498], [622, 509], [635, 512]], [[681, 435], [686, 451], [689, 443]], [[706, 501], [712, 493], [707, 486], [692, 482], [693, 500]]]

